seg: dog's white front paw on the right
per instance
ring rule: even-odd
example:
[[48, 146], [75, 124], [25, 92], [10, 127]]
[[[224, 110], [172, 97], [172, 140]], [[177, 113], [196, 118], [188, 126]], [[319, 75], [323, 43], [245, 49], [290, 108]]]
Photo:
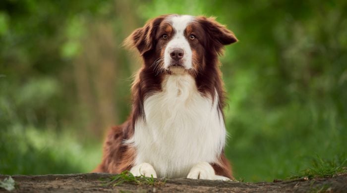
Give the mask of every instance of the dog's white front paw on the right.
[[187, 178], [215, 180], [215, 176], [215, 170], [209, 163], [200, 162], [191, 168]]

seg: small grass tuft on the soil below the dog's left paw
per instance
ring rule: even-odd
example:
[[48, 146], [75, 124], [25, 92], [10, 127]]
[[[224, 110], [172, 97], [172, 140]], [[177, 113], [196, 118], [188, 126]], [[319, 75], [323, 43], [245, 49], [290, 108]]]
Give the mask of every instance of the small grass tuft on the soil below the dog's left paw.
[[131, 172], [129, 171], [124, 171], [120, 174], [117, 174], [116, 176], [113, 176], [110, 179], [109, 183], [107, 185], [113, 185], [113, 186], [118, 186], [123, 183], [134, 183], [136, 185], [147, 185], [147, 186], [161, 186], [165, 184], [166, 180], [162, 181], [160, 179], [154, 179], [153, 176], [151, 177], [146, 177], [146, 176], [134, 176], [132, 175]]

